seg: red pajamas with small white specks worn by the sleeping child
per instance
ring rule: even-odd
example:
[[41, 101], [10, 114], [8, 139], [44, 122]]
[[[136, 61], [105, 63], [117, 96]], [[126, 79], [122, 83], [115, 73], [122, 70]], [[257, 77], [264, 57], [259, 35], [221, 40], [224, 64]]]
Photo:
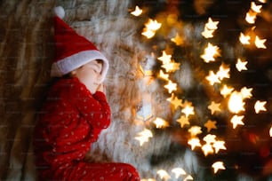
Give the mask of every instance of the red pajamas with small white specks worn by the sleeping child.
[[84, 161], [85, 153], [109, 123], [104, 93], [92, 95], [76, 77], [55, 83], [34, 130], [39, 180], [140, 180], [129, 164]]

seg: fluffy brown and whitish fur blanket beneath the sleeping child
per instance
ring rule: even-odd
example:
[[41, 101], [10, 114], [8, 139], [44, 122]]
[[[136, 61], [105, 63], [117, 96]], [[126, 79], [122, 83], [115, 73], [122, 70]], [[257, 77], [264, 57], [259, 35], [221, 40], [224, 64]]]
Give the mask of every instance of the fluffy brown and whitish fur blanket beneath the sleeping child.
[[143, 146], [135, 139], [146, 127], [145, 122], [137, 121], [135, 114], [135, 107], [144, 95], [152, 97], [156, 116], [167, 118], [171, 110], [165, 101], [168, 95], [164, 95], [159, 83], [147, 82], [140, 73], [140, 61], [146, 59], [148, 48], [140, 43], [143, 22], [129, 13], [134, 8], [132, 1], [6, 0], [0, 7], [0, 179], [36, 177], [31, 134], [36, 111], [50, 83], [52, 9], [56, 5], [64, 7], [64, 20], [110, 60], [106, 85], [112, 124], [92, 146], [90, 161], [131, 163], [142, 178], [159, 179], [157, 170], [172, 173], [173, 168], [201, 177], [194, 153], [175, 145], [167, 130], [155, 130], [154, 137]]

